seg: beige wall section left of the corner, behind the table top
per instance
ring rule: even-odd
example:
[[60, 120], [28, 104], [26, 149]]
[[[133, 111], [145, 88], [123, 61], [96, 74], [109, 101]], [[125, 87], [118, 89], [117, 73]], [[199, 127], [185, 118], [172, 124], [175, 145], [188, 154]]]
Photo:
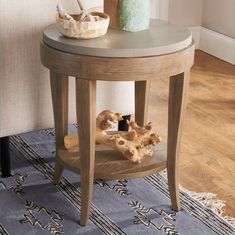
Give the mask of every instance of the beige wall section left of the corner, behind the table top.
[[202, 0], [169, 0], [170, 23], [198, 26], [201, 25], [201, 16]]

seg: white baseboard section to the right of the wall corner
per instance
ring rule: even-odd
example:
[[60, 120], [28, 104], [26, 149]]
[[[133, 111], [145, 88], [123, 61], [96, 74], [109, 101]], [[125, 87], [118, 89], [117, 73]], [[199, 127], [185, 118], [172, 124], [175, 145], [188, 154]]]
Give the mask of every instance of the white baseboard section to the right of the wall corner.
[[201, 27], [199, 49], [235, 64], [235, 39]]

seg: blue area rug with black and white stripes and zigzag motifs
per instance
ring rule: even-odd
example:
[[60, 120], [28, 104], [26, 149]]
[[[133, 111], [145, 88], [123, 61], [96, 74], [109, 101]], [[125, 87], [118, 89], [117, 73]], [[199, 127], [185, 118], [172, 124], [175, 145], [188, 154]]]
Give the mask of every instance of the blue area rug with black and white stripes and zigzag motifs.
[[[70, 131], [74, 132], [71, 126]], [[159, 174], [136, 180], [94, 182], [90, 222], [79, 225], [79, 175], [64, 172], [52, 184], [53, 130], [11, 137], [12, 177], [0, 179], [0, 234], [234, 234], [210, 209], [180, 191], [182, 210], [171, 210]]]

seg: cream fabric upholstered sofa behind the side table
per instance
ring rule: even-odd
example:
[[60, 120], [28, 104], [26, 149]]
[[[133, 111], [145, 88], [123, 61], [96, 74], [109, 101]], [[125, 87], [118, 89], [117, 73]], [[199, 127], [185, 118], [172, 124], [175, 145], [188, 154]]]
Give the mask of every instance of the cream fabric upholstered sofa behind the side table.
[[[0, 137], [53, 126], [49, 73], [40, 62], [39, 41], [42, 30], [56, 20], [57, 3], [68, 12], [78, 9], [76, 0], [0, 0]], [[100, 3], [84, 2], [87, 7]], [[76, 122], [74, 86], [70, 79], [70, 123]], [[134, 113], [133, 87], [99, 82], [97, 112]]]

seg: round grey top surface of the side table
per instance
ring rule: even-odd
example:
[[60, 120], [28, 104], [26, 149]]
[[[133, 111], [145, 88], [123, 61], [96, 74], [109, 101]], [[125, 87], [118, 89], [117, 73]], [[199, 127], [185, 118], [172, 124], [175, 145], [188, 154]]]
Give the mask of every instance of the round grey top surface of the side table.
[[58, 24], [43, 31], [43, 41], [60, 51], [99, 57], [143, 57], [173, 53], [192, 43], [191, 32], [162, 20], [151, 20], [150, 28], [140, 32], [109, 29], [94, 39], [70, 39], [61, 35]]

